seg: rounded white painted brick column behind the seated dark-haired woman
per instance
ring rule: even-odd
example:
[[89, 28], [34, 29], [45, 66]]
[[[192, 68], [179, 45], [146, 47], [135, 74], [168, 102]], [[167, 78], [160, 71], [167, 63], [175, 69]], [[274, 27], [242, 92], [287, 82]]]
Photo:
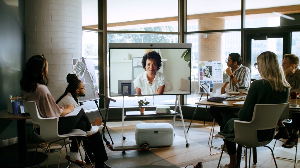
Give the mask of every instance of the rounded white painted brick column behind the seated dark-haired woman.
[[72, 59], [82, 56], [81, 0], [25, 0], [26, 60], [43, 53], [55, 100], [67, 87]]

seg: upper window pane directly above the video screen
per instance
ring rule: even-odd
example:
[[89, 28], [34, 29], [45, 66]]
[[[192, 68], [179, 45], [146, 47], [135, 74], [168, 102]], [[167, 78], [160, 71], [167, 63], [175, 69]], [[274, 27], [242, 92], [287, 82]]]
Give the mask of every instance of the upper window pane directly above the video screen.
[[107, 30], [178, 32], [178, 0], [109, 0]]

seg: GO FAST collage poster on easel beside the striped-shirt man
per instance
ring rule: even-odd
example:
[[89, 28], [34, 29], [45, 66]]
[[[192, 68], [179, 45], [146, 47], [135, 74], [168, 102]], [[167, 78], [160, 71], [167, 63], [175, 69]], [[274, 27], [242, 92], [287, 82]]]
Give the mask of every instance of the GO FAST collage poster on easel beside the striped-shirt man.
[[199, 61], [199, 93], [211, 93], [214, 83], [223, 83], [220, 61]]

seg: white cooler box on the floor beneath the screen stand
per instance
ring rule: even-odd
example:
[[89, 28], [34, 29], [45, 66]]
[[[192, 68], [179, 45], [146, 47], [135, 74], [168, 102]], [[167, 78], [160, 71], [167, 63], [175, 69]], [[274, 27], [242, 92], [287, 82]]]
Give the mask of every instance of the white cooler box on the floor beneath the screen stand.
[[148, 142], [150, 147], [171, 146], [174, 138], [173, 126], [169, 123], [141, 123], [135, 126], [135, 142]]

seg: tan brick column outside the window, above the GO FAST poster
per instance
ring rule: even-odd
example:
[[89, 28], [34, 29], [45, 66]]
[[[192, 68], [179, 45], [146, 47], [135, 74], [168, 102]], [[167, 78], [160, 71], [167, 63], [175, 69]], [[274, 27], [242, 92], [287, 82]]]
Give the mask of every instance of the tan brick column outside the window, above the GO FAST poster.
[[[199, 19], [199, 30], [224, 29], [225, 20], [221, 18]], [[223, 61], [222, 55], [223, 33], [199, 34], [199, 60]]]

